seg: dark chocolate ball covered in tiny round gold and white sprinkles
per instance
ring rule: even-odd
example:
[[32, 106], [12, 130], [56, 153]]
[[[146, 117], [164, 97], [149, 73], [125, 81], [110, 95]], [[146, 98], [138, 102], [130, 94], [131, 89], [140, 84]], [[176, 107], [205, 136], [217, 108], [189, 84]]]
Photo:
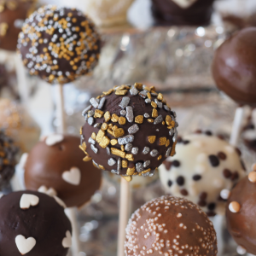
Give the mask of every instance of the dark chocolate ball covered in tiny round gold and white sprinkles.
[[31, 75], [66, 84], [96, 66], [100, 38], [93, 22], [79, 10], [47, 5], [26, 20], [17, 48]]

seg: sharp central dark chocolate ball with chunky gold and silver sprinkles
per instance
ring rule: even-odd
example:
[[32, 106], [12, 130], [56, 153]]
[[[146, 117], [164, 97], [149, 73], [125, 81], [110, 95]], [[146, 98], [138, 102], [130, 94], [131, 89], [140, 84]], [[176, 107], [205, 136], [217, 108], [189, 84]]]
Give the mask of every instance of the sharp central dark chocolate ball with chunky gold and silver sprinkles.
[[143, 84], [121, 85], [90, 99], [84, 109], [81, 142], [85, 160], [102, 170], [131, 176], [152, 176], [175, 154], [176, 113], [161, 93]]

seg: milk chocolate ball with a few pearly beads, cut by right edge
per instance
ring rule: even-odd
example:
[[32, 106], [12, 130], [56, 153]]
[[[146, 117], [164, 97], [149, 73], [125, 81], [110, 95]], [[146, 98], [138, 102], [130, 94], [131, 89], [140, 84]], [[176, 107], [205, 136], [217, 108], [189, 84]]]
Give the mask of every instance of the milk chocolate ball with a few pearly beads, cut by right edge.
[[256, 165], [253, 166], [253, 172], [250, 172], [231, 190], [226, 205], [227, 227], [230, 235], [239, 245], [238, 253], [256, 254], [255, 211]]

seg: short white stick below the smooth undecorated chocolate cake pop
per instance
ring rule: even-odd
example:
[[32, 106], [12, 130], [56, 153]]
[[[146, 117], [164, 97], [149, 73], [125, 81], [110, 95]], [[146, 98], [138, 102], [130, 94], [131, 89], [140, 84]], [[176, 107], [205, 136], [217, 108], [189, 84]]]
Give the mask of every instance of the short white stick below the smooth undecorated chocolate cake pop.
[[244, 108], [243, 107], [236, 108], [235, 118], [234, 118], [232, 131], [230, 135], [230, 144], [234, 147], [237, 146], [239, 141], [243, 116], [244, 116]]

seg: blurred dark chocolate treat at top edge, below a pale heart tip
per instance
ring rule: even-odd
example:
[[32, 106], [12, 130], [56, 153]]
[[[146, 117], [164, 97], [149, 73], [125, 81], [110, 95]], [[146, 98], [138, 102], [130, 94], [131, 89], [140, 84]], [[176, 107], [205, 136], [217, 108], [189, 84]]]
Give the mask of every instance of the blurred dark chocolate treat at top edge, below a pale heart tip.
[[[180, 1], [183, 2], [184, 1]], [[212, 17], [214, 0], [197, 0], [186, 8], [177, 0], [152, 0], [152, 15], [157, 25], [207, 26]], [[195, 2], [195, 3], [194, 3]]]

